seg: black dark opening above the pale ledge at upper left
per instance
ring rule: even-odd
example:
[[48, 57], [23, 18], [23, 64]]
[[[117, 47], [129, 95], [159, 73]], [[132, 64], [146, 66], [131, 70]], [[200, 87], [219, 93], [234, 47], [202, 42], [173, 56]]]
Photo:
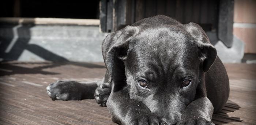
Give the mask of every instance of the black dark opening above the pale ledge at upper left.
[[[0, 1], [1, 17], [14, 17], [14, 2]], [[20, 17], [99, 19], [99, 0], [20, 0]]]

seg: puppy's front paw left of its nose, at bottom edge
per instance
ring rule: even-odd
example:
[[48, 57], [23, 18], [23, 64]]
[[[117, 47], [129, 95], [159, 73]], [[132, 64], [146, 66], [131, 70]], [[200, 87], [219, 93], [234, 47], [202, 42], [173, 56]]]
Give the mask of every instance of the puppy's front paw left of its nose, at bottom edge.
[[154, 113], [140, 112], [130, 121], [128, 125], [168, 125], [165, 121], [160, 120]]

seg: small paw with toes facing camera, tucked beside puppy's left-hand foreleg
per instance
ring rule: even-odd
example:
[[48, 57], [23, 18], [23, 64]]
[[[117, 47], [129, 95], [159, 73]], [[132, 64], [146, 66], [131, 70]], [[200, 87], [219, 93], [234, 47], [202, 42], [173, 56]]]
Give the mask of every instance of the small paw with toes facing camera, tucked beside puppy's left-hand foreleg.
[[94, 97], [99, 106], [107, 106], [106, 102], [109, 98], [110, 93], [111, 85], [109, 83], [103, 83], [95, 90]]

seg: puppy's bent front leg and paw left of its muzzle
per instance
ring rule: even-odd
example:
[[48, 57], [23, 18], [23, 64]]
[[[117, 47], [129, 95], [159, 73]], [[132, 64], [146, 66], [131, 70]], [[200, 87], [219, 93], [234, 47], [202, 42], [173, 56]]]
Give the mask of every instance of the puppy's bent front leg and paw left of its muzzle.
[[111, 92], [107, 101], [112, 121], [122, 125], [167, 125], [142, 102], [132, 100], [127, 90]]

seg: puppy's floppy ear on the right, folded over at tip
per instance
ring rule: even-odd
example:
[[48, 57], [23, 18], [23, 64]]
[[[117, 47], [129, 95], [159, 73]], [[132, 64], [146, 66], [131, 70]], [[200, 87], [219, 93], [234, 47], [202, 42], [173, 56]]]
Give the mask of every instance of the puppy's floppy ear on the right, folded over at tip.
[[217, 51], [210, 43], [206, 33], [203, 29], [195, 23], [185, 25], [187, 31], [194, 37], [199, 48], [198, 57], [203, 61], [203, 71], [207, 72], [217, 57]]

